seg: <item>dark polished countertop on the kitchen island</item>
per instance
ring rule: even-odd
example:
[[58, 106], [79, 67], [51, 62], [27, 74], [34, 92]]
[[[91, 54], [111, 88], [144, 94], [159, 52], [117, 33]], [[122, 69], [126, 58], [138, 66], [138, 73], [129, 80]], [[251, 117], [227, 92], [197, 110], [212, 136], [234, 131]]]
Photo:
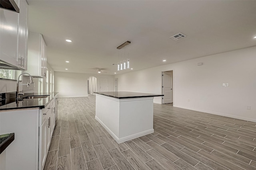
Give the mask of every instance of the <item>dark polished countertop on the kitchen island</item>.
[[162, 94], [149, 94], [149, 93], [137, 93], [137, 92], [94, 92], [94, 93], [101, 94], [104, 96], [109, 96], [112, 98], [117, 98], [117, 99], [164, 96]]

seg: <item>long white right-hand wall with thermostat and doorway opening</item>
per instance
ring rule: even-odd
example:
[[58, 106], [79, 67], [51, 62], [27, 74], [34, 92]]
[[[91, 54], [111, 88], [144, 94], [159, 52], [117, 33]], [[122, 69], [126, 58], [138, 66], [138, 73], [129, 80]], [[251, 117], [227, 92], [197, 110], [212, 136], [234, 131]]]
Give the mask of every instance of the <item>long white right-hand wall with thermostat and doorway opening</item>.
[[[256, 47], [116, 75], [119, 91], [161, 94], [173, 70], [174, 106], [256, 122]], [[197, 63], [203, 63], [197, 66]], [[228, 83], [229, 87], [222, 86]], [[190, 102], [188, 102], [188, 99]], [[161, 98], [155, 98], [161, 103]], [[247, 110], [251, 106], [251, 110]]]

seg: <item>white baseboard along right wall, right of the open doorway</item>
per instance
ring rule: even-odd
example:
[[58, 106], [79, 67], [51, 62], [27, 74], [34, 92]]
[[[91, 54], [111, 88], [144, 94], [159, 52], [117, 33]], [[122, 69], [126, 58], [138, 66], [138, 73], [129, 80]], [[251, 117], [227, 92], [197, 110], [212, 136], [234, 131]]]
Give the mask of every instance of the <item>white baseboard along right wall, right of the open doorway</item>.
[[256, 122], [256, 119], [252, 119], [252, 118], [248, 118], [248, 117], [229, 115], [229, 114], [225, 114], [225, 113], [219, 113], [219, 112], [208, 111], [208, 110], [203, 110], [203, 109], [195, 109], [195, 108], [192, 108], [192, 107], [184, 107], [184, 106], [176, 106], [176, 105], [174, 107], [179, 107], [179, 108], [182, 108], [182, 109], [189, 109], [189, 110], [194, 110], [194, 111], [200, 111], [200, 112], [210, 113], [210, 114], [214, 114], [214, 115], [226, 116], [226, 117], [231, 117], [231, 118], [234, 118], [234, 119], [241, 119], [241, 120], [245, 120], [245, 121]]

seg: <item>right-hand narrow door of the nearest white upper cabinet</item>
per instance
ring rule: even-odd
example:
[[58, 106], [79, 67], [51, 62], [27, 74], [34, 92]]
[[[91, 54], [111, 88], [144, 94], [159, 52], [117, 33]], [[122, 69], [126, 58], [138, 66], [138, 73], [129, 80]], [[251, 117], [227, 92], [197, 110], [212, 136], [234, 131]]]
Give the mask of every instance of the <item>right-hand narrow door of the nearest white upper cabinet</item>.
[[28, 58], [28, 27], [27, 27], [27, 3], [26, 1], [20, 1], [20, 14], [18, 25], [18, 65], [23, 70], [27, 70], [27, 58]]

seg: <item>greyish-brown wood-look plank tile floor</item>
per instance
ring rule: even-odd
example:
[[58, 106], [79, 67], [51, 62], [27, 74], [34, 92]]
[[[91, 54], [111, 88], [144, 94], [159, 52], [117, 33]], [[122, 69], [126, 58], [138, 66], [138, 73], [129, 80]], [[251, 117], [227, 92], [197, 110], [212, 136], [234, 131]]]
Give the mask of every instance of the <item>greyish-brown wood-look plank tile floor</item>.
[[256, 170], [256, 123], [154, 104], [154, 133], [118, 145], [95, 96], [59, 98], [44, 170]]

